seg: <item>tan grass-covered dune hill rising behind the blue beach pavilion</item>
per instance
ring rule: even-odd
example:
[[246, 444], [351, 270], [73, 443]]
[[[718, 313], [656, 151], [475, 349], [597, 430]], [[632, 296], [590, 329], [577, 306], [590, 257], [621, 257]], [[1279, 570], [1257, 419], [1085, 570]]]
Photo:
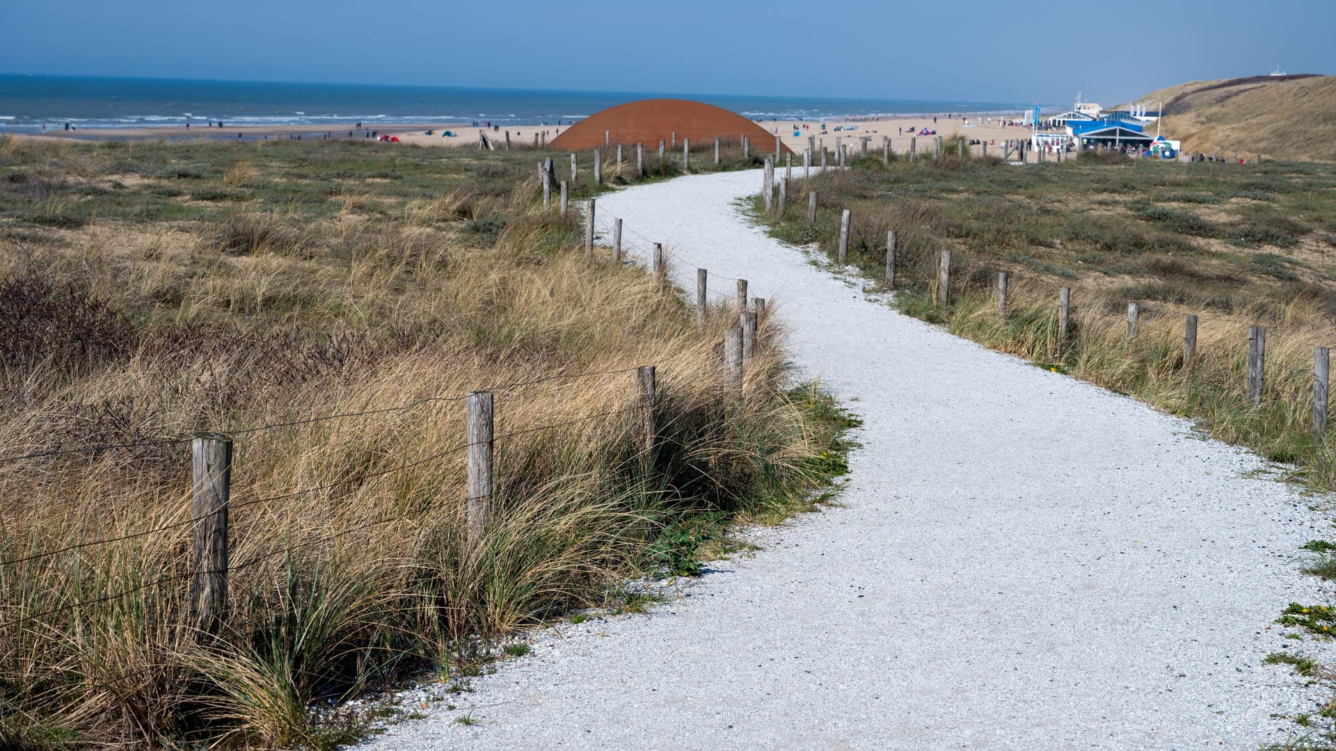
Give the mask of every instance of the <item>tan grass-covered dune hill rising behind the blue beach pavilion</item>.
[[1336, 162], [1336, 76], [1192, 82], [1141, 100], [1164, 102], [1162, 132], [1190, 152]]

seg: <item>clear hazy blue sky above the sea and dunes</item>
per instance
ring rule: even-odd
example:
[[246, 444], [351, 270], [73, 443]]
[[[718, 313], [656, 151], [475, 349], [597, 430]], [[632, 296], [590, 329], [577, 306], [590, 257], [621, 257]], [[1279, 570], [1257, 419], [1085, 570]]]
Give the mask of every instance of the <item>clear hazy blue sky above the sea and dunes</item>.
[[11, 73], [1105, 104], [1336, 73], [1336, 0], [0, 0], [0, 29]]

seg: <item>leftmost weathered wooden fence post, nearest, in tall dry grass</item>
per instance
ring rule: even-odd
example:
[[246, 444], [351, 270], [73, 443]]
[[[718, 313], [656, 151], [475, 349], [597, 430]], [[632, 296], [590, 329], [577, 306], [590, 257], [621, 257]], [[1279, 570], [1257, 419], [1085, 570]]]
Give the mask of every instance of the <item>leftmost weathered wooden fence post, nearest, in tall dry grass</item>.
[[196, 436], [190, 446], [191, 470], [191, 609], [195, 624], [210, 633], [227, 615], [227, 501], [232, 480], [232, 440]]

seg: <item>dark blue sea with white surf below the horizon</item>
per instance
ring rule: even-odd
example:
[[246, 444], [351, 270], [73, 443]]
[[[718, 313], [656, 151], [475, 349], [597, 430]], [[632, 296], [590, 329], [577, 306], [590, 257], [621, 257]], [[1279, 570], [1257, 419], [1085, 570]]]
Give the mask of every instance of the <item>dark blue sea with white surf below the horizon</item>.
[[354, 123], [570, 124], [637, 99], [707, 102], [754, 120], [820, 120], [926, 112], [1021, 112], [1017, 102], [931, 102], [724, 96], [615, 91], [537, 91], [99, 76], [0, 75], [0, 132], [154, 126], [329, 126]]

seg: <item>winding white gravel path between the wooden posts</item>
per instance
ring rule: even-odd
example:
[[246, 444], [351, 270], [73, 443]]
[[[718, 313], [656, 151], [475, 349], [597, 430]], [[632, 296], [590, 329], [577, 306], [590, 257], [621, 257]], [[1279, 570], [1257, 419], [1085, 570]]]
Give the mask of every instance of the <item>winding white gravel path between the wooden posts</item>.
[[[534, 651], [367, 748], [1256, 748], [1325, 696], [1268, 652], [1331, 525], [1186, 421], [947, 335], [739, 215], [760, 172], [599, 199], [745, 277], [864, 420], [847, 508], [760, 531], [649, 616]], [[648, 243], [640, 241], [640, 246]], [[717, 289], [732, 293], [732, 282]], [[438, 706], [437, 706], [438, 707]]]

